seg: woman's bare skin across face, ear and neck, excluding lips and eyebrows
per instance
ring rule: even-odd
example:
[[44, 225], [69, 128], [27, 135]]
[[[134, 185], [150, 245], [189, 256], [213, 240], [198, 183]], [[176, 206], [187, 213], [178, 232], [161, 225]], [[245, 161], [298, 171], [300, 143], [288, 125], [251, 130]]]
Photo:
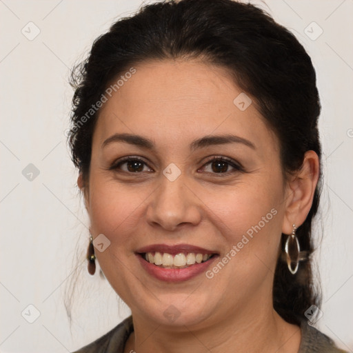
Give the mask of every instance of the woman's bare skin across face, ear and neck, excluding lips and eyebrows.
[[[283, 179], [278, 139], [254, 103], [244, 111], [234, 105], [242, 91], [223, 68], [195, 59], [134, 68], [103, 105], [89, 178], [78, 179], [93, 238], [110, 240], [96, 251], [99, 265], [132, 311], [125, 352], [297, 352], [300, 329], [274, 311], [272, 281], [281, 233], [290, 234], [310, 211], [317, 155], [307, 151], [301, 171]], [[123, 142], [102, 147], [115, 133], [152, 139], [155, 149]], [[190, 150], [194, 139], [222, 134], [247, 139], [254, 149], [228, 143]], [[109, 169], [128, 156], [145, 161], [141, 171], [131, 172], [128, 163]], [[212, 157], [228, 157], [243, 170], [225, 164], [220, 173]], [[175, 181], [163, 174], [170, 163], [181, 171]], [[203, 273], [165, 283], [147, 274], [134, 254], [153, 243], [188, 243], [221, 259], [272, 209], [276, 215], [212, 279]], [[170, 305], [180, 313], [173, 322], [163, 315]]]

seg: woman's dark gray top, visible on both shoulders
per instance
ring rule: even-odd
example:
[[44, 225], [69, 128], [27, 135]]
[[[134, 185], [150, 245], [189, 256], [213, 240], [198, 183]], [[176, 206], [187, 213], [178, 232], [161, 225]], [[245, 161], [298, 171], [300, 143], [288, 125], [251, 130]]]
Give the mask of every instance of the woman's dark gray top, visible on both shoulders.
[[[73, 353], [123, 353], [125, 342], [134, 331], [132, 316], [123, 320], [104, 336]], [[301, 344], [298, 353], [347, 353], [334, 345], [334, 342], [316, 328], [301, 323]]]

